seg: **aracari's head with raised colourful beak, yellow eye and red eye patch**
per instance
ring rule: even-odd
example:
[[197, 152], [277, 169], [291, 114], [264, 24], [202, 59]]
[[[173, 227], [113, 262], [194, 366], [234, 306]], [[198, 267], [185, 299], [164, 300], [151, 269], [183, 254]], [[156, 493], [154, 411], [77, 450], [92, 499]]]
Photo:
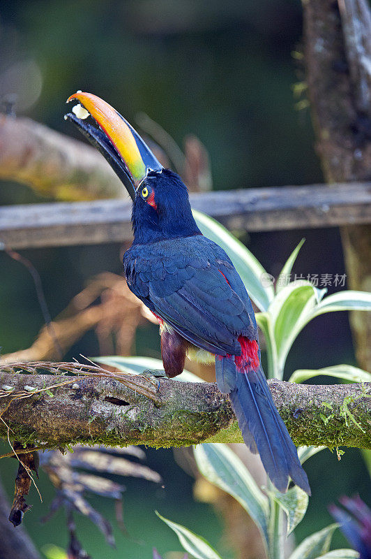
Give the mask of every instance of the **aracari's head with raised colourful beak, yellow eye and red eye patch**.
[[[200, 234], [179, 175], [163, 168], [135, 129], [103, 99], [82, 92], [68, 101], [74, 99], [79, 105], [65, 118], [103, 154], [128, 190], [135, 242]], [[93, 122], [86, 120], [89, 116]]]

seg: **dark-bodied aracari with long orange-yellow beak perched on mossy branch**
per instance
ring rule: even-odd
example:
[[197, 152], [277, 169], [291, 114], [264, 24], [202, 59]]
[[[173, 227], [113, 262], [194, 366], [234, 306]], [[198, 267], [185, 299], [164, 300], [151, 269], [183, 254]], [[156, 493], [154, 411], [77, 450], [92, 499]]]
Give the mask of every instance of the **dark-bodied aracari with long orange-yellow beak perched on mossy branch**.
[[[285, 492], [291, 477], [310, 493], [268, 389], [254, 311], [232, 261], [199, 231], [181, 178], [162, 168], [119, 112], [93, 94], [71, 99], [81, 105], [66, 119], [100, 150], [132, 198], [134, 241], [123, 266], [130, 290], [160, 322], [167, 377], [181, 374], [186, 355], [215, 359], [218, 388], [229, 394], [243, 440], [259, 452], [275, 487]], [[88, 113], [93, 124], [85, 120]]]

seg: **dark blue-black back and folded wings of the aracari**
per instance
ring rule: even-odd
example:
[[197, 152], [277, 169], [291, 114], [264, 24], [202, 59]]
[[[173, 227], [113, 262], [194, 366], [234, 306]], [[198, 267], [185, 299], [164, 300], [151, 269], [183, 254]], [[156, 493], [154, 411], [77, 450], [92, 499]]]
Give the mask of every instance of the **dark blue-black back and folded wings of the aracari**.
[[257, 338], [241, 278], [224, 250], [204, 236], [134, 245], [124, 267], [132, 292], [198, 347], [239, 355], [239, 335]]

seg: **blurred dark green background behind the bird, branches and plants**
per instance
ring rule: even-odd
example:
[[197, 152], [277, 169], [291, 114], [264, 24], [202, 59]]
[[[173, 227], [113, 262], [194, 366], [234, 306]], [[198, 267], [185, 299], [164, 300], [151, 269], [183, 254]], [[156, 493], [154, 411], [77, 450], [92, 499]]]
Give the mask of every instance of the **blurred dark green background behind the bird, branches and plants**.
[[[179, 145], [188, 133], [202, 140], [209, 150], [215, 189], [322, 182], [305, 97], [294, 97], [294, 85], [304, 79], [301, 17], [300, 2], [291, 0], [3, 1], [2, 101], [17, 92], [18, 115], [75, 137], [63, 114], [67, 97], [77, 89], [103, 97], [132, 124], [137, 112], [144, 111]], [[26, 187], [1, 183], [0, 204], [40, 201]], [[253, 233], [244, 240], [276, 275], [303, 236], [307, 240], [294, 272], [345, 273], [337, 228]], [[120, 249], [104, 245], [22, 254], [38, 269], [54, 317], [94, 274], [121, 273]], [[43, 317], [27, 270], [1, 252], [0, 270], [0, 346], [8, 353], [29, 347]], [[67, 358], [80, 353], [98, 355], [93, 333], [75, 344]], [[160, 355], [155, 326], [139, 330], [137, 353]], [[330, 313], [298, 337], [287, 375], [299, 367], [338, 363], [354, 364], [354, 351], [346, 314]], [[128, 480], [124, 514], [130, 537], [116, 530], [117, 551], [112, 551], [81, 519], [79, 535], [87, 551], [94, 558], [144, 559], [151, 556], [152, 546], [161, 553], [179, 550], [176, 537], [153, 513], [158, 509], [232, 558], [232, 551], [220, 542], [220, 519], [209, 505], [192, 499], [192, 478], [174, 463], [172, 451], [150, 449], [148, 462], [162, 474], [165, 489]], [[306, 469], [313, 496], [296, 530], [299, 540], [330, 522], [326, 505], [338, 495], [358, 492], [364, 500], [370, 498], [369, 477], [356, 450], [347, 450], [340, 462], [325, 451]], [[1, 463], [1, 474], [11, 493], [13, 460]], [[53, 495], [45, 476], [39, 487], [44, 502], [40, 504], [32, 491], [33, 510], [24, 523], [40, 549], [47, 543], [63, 546], [63, 515], [46, 525], [39, 523]], [[92, 502], [114, 522], [111, 502]], [[340, 542], [337, 538], [335, 544]]]

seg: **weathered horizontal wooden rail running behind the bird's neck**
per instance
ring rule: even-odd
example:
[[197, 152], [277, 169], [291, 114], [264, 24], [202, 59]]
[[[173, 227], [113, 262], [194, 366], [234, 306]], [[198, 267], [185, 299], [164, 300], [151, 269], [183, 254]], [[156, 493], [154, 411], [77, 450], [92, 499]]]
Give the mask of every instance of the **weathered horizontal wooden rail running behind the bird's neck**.
[[[371, 223], [371, 183], [213, 191], [191, 194], [192, 208], [229, 229], [275, 231]], [[0, 208], [0, 242], [14, 249], [124, 242], [131, 202], [9, 205]]]

